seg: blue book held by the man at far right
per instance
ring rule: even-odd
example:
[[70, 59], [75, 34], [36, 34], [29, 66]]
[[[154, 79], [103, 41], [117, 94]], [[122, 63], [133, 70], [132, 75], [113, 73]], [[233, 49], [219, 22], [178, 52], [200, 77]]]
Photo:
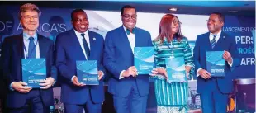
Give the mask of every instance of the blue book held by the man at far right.
[[206, 51], [206, 70], [211, 77], [225, 77], [224, 51]]

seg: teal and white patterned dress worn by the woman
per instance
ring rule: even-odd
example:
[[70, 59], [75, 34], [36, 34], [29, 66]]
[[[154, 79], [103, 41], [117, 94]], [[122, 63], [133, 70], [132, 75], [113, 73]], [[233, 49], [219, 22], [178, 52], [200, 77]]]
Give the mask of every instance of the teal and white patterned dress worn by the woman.
[[[185, 65], [192, 67], [194, 64], [192, 49], [188, 45], [188, 40], [183, 37], [180, 41], [173, 40], [168, 43], [165, 38], [153, 41], [155, 49], [155, 63], [158, 68], [165, 68], [165, 59], [170, 57], [183, 57]], [[158, 113], [186, 113], [188, 87], [187, 82], [168, 82], [163, 76], [154, 76], [154, 91], [158, 105]]]

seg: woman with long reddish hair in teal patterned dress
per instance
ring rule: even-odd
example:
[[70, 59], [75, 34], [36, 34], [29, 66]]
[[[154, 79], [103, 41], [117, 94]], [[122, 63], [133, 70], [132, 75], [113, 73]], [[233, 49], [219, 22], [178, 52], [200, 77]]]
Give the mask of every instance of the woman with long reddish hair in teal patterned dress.
[[159, 35], [153, 40], [156, 68], [152, 70], [158, 113], [186, 113], [188, 83], [170, 82], [165, 70], [166, 58], [183, 57], [186, 75], [194, 68], [192, 50], [188, 40], [181, 34], [178, 17], [166, 14], [159, 25]]

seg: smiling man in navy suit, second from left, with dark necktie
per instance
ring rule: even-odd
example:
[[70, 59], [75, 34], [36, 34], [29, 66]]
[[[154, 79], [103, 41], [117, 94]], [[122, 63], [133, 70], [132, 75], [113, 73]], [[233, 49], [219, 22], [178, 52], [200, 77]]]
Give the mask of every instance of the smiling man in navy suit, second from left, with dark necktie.
[[[71, 13], [73, 29], [57, 35], [55, 42], [56, 67], [61, 82], [61, 101], [67, 113], [99, 113], [104, 101], [102, 65], [104, 40], [102, 35], [88, 31], [88, 16], [82, 9]], [[97, 60], [99, 85], [78, 82], [77, 60]]]

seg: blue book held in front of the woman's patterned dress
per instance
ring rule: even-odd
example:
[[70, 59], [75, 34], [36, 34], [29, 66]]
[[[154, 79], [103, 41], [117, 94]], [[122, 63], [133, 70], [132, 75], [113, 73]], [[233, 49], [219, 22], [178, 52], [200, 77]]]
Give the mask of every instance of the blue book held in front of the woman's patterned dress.
[[165, 59], [168, 82], [187, 82], [183, 57]]

